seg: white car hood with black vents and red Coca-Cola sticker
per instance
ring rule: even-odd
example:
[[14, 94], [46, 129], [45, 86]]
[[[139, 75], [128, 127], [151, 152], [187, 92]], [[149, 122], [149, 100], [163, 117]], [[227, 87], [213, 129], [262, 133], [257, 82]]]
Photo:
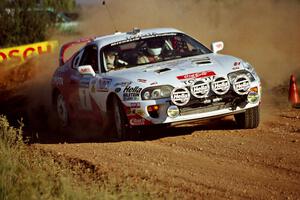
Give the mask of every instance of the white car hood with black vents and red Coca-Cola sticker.
[[143, 86], [173, 85], [179, 87], [185, 85], [184, 80], [208, 76], [227, 77], [228, 73], [241, 69], [244, 69], [241, 59], [212, 53], [111, 71], [107, 75], [139, 82]]

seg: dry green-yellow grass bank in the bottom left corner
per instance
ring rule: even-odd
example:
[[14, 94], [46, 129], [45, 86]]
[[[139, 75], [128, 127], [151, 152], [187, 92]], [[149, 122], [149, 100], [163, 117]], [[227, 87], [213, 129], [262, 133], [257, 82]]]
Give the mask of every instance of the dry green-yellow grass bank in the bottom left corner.
[[[0, 116], [0, 199], [148, 199], [143, 187], [117, 179], [93, 179], [82, 163], [33, 149], [24, 143], [22, 123], [9, 125]], [[74, 162], [74, 161], [73, 161]], [[85, 178], [82, 178], [85, 177]]]

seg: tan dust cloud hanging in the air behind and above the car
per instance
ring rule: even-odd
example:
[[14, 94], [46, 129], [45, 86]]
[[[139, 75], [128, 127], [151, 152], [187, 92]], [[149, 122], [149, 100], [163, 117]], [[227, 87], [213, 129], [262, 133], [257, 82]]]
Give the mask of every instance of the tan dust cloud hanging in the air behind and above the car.
[[208, 47], [222, 40], [222, 53], [253, 64], [268, 88], [300, 75], [298, 0], [106, 0], [86, 8], [83, 20], [87, 36], [174, 27]]

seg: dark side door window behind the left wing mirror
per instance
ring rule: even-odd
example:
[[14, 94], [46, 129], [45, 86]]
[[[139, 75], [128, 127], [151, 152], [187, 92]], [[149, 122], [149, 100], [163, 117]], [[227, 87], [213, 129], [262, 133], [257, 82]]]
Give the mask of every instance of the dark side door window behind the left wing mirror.
[[91, 65], [94, 71], [99, 73], [97, 46], [87, 46], [84, 49], [79, 65]]

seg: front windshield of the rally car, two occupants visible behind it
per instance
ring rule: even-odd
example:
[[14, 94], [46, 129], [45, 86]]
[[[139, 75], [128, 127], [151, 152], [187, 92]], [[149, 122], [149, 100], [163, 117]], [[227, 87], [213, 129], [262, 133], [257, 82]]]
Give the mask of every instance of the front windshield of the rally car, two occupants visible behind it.
[[133, 37], [103, 48], [107, 71], [211, 53], [201, 43], [182, 33]]

